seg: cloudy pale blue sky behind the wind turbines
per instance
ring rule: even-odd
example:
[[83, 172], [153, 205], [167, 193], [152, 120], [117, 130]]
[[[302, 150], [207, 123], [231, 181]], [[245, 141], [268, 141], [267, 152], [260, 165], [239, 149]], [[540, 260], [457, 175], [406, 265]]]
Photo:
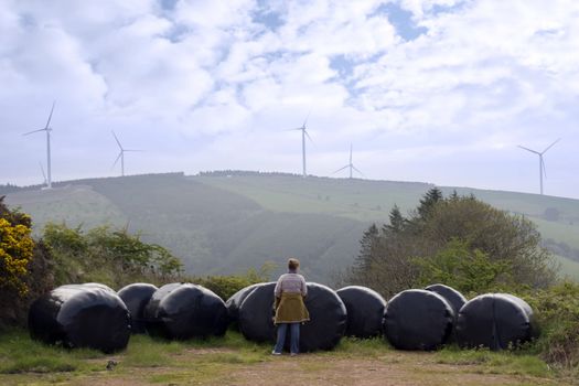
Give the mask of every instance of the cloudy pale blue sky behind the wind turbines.
[[579, 199], [579, 1], [0, 0], [0, 183], [239, 169]]

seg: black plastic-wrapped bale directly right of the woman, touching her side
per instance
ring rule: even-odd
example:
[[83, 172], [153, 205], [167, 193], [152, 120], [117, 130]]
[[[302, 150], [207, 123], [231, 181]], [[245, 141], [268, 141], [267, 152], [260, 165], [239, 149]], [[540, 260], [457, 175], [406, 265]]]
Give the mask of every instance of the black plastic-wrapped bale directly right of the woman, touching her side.
[[[305, 308], [310, 321], [300, 328], [300, 351], [335, 347], [346, 331], [347, 311], [344, 302], [329, 287], [309, 282]], [[289, 334], [287, 343], [289, 347]]]

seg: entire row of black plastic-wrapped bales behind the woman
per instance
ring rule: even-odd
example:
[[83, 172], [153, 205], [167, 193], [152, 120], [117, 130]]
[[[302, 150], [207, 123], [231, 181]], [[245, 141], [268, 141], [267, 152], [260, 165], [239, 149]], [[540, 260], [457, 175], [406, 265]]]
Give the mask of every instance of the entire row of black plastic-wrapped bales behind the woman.
[[[187, 340], [233, 328], [249, 341], [272, 343], [275, 285], [246, 287], [226, 302], [192, 283], [133, 283], [118, 292], [99, 283], [62, 286], [32, 303], [29, 328], [33, 339], [49, 344], [107, 353], [125, 349], [131, 333]], [[502, 350], [536, 334], [524, 300], [487, 293], [467, 301], [443, 285], [405, 290], [386, 302], [369, 288], [334, 291], [309, 282], [305, 307], [311, 320], [300, 331], [303, 352], [332, 350], [343, 336], [379, 335], [398, 350], [432, 351], [449, 342]]]

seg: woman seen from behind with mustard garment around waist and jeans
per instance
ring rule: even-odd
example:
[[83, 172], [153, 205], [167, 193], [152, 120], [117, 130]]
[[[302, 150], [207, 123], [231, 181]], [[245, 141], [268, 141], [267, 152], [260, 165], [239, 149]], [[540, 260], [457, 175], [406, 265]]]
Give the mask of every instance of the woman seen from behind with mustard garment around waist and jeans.
[[305, 279], [298, 274], [300, 261], [298, 259], [288, 260], [288, 274], [279, 277], [274, 293], [276, 296], [276, 317], [274, 323], [278, 326], [278, 339], [276, 347], [271, 354], [281, 355], [286, 343], [288, 325], [290, 329], [290, 352], [298, 355], [300, 351], [300, 323], [310, 320], [308, 309], [303, 299], [308, 296]]

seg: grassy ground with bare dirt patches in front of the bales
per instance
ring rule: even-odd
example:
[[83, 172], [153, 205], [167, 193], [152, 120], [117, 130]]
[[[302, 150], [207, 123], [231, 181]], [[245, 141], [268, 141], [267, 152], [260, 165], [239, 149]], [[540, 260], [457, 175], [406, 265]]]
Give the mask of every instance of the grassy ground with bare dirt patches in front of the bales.
[[[331, 352], [291, 360], [272, 357], [270, 350], [269, 344], [247, 342], [229, 331], [224, 337], [186, 342], [138, 335], [131, 337], [126, 351], [106, 355], [45, 346], [17, 330], [0, 335], [0, 384], [267, 385], [267, 380], [276, 384], [274, 379], [293, 372], [300, 374], [302, 384], [378, 384], [372, 382], [373, 376], [393, 376], [392, 384], [403, 385], [572, 384], [565, 374], [524, 352], [460, 351], [453, 346], [435, 353], [400, 352], [382, 339], [344, 339]], [[109, 361], [116, 365], [107, 371]]]

